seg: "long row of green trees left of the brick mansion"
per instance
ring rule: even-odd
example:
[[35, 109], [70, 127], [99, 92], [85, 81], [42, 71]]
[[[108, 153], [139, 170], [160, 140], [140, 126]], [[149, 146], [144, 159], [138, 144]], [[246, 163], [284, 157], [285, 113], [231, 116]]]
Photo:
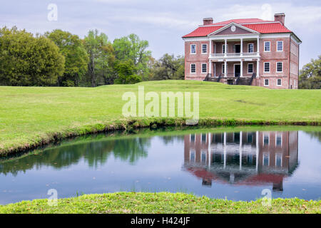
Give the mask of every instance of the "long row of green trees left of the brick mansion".
[[88, 31], [84, 38], [56, 29], [43, 35], [0, 28], [1, 86], [102, 86], [184, 79], [184, 57], [156, 60], [136, 34], [108, 40]]

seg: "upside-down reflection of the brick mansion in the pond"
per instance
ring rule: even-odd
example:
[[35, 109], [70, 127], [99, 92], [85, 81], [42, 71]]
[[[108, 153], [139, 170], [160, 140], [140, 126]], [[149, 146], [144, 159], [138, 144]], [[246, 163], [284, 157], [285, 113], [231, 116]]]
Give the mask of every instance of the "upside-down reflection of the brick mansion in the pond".
[[297, 132], [205, 133], [185, 135], [184, 143], [184, 168], [203, 185], [272, 183], [282, 191], [297, 166]]

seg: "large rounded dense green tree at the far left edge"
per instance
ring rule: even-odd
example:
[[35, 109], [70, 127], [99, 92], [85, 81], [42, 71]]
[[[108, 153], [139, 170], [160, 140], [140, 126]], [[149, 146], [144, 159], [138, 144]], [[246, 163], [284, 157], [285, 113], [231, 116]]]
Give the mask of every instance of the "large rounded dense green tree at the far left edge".
[[65, 59], [56, 44], [16, 27], [0, 29], [0, 83], [4, 86], [52, 86]]

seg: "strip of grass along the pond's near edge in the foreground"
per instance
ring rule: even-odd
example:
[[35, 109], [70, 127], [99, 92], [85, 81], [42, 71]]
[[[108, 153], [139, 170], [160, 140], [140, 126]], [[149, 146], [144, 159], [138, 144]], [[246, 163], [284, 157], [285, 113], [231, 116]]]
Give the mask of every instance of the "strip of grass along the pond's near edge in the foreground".
[[0, 206], [0, 213], [320, 213], [320, 201], [262, 199], [233, 202], [225, 199], [195, 197], [184, 193], [117, 192], [58, 199], [49, 206], [47, 199], [22, 201]]

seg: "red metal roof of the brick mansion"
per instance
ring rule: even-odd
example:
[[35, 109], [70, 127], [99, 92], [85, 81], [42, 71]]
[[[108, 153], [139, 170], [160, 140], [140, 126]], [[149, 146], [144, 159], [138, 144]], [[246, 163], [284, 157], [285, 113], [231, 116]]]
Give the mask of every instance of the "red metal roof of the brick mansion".
[[[220, 28], [230, 24], [230, 23], [240, 24], [240, 26], [245, 26], [246, 28], [253, 29], [254, 31], [258, 31], [259, 33], [290, 33], [289, 29], [285, 26], [282, 26], [280, 23], [275, 23], [274, 21], [263, 21], [261, 19], [232, 19], [228, 21], [222, 21], [215, 23], [211, 26], [200, 26], [196, 28], [191, 33], [183, 36], [183, 38], [187, 37], [199, 37], [199, 36], [208, 36], [208, 34], [217, 31]], [[269, 23], [270, 22], [270, 23]], [[254, 23], [254, 24], [253, 24]]]

